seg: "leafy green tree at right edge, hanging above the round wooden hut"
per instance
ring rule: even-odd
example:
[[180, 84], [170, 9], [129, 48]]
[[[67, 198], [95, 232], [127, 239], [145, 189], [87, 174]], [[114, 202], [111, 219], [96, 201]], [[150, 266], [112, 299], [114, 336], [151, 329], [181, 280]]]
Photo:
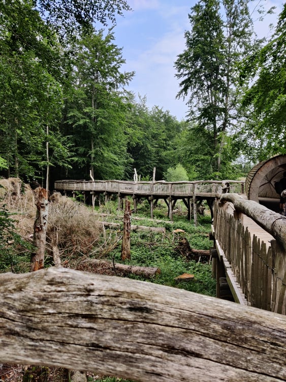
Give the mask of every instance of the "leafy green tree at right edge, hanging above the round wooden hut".
[[244, 149], [255, 161], [286, 153], [286, 4], [272, 39], [244, 60], [240, 80], [248, 86], [240, 134]]

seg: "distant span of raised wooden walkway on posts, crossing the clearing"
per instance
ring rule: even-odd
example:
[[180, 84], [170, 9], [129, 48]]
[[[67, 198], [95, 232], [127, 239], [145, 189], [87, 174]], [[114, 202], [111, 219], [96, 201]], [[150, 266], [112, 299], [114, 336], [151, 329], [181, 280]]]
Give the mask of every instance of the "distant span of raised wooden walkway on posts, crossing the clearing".
[[[244, 194], [244, 182], [235, 180], [226, 180], [229, 185], [229, 192]], [[57, 191], [76, 197], [77, 193], [84, 195], [84, 200], [91, 199], [94, 207], [96, 198], [101, 194], [105, 196], [107, 202], [109, 198], [115, 195], [118, 198], [118, 209], [122, 207], [122, 199], [131, 196], [134, 201], [134, 210], [136, 211], [138, 202], [141, 199], [147, 199], [150, 205], [150, 216], [153, 219], [153, 208], [157, 201], [162, 199], [168, 207], [168, 216], [173, 219], [173, 210], [177, 200], [182, 200], [188, 211], [188, 220], [193, 216], [197, 224], [197, 209], [203, 200], [206, 200], [212, 213], [212, 205], [215, 195], [221, 190], [221, 181], [207, 180], [194, 182], [132, 182], [119, 180], [58, 180], [54, 183]]]

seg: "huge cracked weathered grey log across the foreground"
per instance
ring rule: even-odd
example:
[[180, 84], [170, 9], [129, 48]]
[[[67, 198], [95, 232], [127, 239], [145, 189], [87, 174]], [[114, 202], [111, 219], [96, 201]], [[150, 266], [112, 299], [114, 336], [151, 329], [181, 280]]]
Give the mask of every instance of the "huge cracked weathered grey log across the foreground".
[[0, 360], [137, 381], [286, 380], [286, 317], [66, 268], [0, 275]]

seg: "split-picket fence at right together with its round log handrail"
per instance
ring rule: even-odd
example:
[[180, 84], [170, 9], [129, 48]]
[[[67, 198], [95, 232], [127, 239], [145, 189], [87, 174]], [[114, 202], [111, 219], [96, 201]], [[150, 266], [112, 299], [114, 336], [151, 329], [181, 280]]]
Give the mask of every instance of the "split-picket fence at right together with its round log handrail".
[[[234, 194], [225, 194], [221, 201], [234, 202], [235, 213], [229, 213], [224, 203], [215, 204], [215, 240], [231, 265], [248, 305], [285, 314], [286, 217]], [[270, 246], [267, 246], [255, 235], [251, 237], [239, 219], [241, 212], [254, 217], [253, 220], [277, 240], [271, 240]]]

